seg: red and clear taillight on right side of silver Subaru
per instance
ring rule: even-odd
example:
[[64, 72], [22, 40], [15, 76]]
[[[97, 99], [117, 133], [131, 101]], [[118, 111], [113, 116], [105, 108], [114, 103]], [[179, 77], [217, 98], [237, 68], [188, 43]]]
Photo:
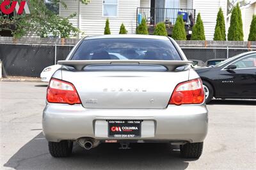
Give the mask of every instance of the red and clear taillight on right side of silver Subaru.
[[204, 87], [200, 78], [179, 83], [169, 104], [200, 104], [204, 102]]

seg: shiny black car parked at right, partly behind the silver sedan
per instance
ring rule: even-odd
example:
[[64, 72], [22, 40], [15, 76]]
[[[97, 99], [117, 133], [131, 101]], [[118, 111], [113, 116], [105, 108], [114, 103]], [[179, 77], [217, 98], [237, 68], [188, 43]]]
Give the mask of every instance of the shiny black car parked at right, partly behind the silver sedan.
[[256, 99], [256, 52], [246, 52], [215, 66], [195, 69], [205, 89], [205, 102], [221, 99]]

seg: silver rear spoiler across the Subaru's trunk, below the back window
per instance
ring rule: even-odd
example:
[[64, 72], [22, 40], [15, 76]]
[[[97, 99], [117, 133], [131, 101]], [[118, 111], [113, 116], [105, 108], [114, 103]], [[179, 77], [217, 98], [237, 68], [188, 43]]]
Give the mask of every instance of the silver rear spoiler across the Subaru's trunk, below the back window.
[[173, 71], [180, 66], [189, 66], [193, 62], [188, 60], [59, 60], [58, 64], [62, 66], [71, 66], [81, 71], [84, 67], [90, 65], [159, 65], [164, 66], [168, 71]]

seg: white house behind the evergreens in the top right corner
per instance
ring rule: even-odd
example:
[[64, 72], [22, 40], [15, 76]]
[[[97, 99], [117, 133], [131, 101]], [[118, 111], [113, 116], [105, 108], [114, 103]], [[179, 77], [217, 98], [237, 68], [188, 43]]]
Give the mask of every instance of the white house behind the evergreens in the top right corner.
[[[250, 1], [250, 3], [241, 7], [241, 15], [243, 20], [243, 32], [244, 41], [247, 41], [250, 34], [250, 25], [252, 22], [252, 16], [256, 15], [256, 1]], [[231, 13], [227, 17], [227, 26], [230, 26]]]

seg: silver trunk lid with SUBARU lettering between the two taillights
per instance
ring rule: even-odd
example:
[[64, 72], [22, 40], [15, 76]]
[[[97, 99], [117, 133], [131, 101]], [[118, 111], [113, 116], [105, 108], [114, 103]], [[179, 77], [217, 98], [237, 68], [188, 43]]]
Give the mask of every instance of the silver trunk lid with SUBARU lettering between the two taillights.
[[62, 70], [62, 79], [74, 84], [84, 108], [166, 108], [175, 86], [188, 76], [188, 70]]

